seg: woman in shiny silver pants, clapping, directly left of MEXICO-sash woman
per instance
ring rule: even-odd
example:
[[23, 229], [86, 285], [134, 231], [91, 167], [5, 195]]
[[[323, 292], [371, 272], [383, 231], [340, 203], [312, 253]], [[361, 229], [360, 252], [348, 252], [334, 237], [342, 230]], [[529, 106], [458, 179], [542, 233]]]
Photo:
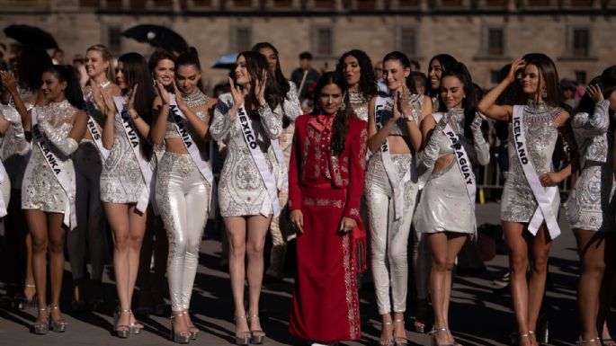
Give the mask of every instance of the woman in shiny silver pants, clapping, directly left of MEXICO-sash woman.
[[[172, 87], [177, 107], [187, 120], [192, 143], [200, 148], [201, 154], [206, 153], [204, 139], [209, 137], [210, 114], [216, 100], [201, 93], [199, 81], [201, 64], [197, 51], [190, 49], [176, 60]], [[169, 119], [170, 95], [162, 77], [156, 80], [156, 86], [158, 97], [154, 104], [157, 118], [151, 137], [155, 145], [165, 141], [165, 155], [156, 174], [156, 203], [169, 240], [167, 278], [173, 315], [172, 338], [175, 342], [188, 342], [196, 339], [199, 333], [192, 324], [188, 309], [199, 266], [199, 245], [209, 214], [212, 186], [193, 161], [174, 120]]]

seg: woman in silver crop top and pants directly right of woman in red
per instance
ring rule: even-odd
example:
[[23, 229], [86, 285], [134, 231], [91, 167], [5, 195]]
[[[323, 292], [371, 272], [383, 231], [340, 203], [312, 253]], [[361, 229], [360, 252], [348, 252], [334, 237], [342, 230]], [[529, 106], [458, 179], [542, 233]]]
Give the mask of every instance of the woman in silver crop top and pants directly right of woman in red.
[[[347, 81], [349, 75], [353, 75], [350, 69], [352, 67], [345, 68]], [[406, 245], [418, 191], [414, 156], [422, 143], [419, 120], [432, 112], [432, 104], [424, 102], [424, 96], [411, 93], [413, 79], [405, 54], [395, 51], [386, 55], [383, 72], [392, 96], [374, 96], [369, 102], [368, 147], [372, 155], [366, 171], [364, 196], [370, 223], [372, 278], [382, 317], [380, 343], [388, 345], [406, 342]], [[377, 102], [384, 102], [383, 111], [379, 111], [380, 129], [375, 120]], [[381, 153], [386, 141], [388, 162]], [[391, 164], [391, 172], [397, 174], [398, 186], [392, 186], [386, 164]], [[395, 196], [398, 193], [402, 194], [399, 199], [402, 206], [397, 206]], [[396, 215], [396, 208], [403, 214]]]

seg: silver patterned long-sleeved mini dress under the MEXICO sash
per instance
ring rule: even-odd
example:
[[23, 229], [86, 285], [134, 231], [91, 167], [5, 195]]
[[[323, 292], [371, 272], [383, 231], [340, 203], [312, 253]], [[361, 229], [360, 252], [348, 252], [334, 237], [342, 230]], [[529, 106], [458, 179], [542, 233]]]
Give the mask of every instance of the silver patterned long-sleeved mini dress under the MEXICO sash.
[[[259, 170], [254, 164], [253, 156], [246, 145], [241, 124], [237, 115], [233, 120], [229, 110], [233, 106], [231, 93], [223, 93], [214, 111], [214, 120], [210, 126], [211, 138], [224, 141], [227, 145], [227, 158], [220, 173], [219, 208], [223, 217], [259, 215], [263, 202], [269, 205], [272, 214], [272, 200], [263, 184]], [[259, 148], [270, 168], [276, 182], [281, 184], [281, 170], [274, 154], [271, 139], [280, 138], [282, 131], [282, 111], [280, 106], [272, 111], [263, 107], [252, 120], [252, 127], [257, 136]], [[286, 172], [285, 172], [286, 173]]]

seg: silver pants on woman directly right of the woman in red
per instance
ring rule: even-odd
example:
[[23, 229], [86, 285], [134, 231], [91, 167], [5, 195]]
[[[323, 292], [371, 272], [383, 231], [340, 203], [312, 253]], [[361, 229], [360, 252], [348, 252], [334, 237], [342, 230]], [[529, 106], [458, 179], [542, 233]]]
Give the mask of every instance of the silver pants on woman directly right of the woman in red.
[[[411, 169], [411, 155], [391, 155], [400, 181]], [[379, 314], [406, 311], [407, 243], [415, 210], [417, 184], [404, 186], [404, 215], [395, 219], [394, 196], [380, 154], [370, 156], [364, 193], [370, 218], [372, 277]], [[387, 255], [387, 259], [386, 259]], [[391, 298], [389, 297], [391, 288]]]

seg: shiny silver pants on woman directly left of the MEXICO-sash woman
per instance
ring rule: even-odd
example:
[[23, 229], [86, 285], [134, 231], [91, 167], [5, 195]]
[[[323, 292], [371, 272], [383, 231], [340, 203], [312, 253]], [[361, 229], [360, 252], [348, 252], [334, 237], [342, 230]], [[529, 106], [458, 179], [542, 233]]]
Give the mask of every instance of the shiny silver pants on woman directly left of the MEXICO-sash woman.
[[186, 310], [190, 305], [210, 192], [211, 186], [191, 155], [163, 155], [156, 175], [156, 203], [169, 238], [167, 279], [174, 311]]

